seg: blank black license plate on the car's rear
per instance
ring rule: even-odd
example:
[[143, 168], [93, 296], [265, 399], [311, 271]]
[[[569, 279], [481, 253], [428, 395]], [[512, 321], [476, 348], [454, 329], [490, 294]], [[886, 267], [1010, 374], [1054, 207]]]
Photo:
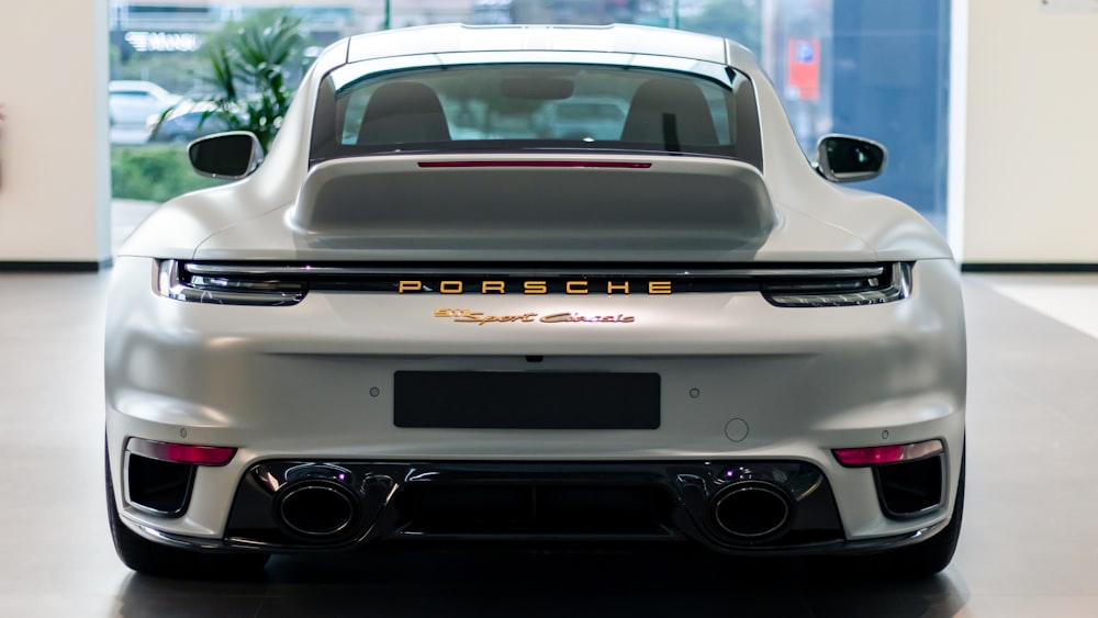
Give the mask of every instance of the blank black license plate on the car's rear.
[[658, 373], [397, 371], [397, 427], [656, 429]]

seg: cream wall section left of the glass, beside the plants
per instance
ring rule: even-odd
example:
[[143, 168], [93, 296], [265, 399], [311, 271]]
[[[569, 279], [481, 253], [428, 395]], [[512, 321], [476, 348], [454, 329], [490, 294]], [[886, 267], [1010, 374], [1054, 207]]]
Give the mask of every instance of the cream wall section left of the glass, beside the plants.
[[107, 0], [0, 11], [0, 266], [110, 259]]

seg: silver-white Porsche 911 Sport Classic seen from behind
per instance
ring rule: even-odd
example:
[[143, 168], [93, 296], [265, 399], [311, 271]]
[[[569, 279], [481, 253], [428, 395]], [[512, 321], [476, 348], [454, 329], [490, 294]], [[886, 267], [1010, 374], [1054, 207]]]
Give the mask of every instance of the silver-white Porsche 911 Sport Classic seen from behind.
[[911, 209], [838, 184], [882, 146], [827, 136], [806, 160], [743, 47], [355, 36], [261, 165], [247, 133], [190, 156], [240, 180], [153, 214], [110, 293], [131, 568], [427, 540], [950, 562], [957, 268]]

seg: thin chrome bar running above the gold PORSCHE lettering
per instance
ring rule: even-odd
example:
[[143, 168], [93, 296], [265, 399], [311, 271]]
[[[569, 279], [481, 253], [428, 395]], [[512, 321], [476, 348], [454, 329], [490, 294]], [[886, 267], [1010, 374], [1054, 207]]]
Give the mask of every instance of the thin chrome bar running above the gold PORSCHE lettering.
[[233, 266], [212, 263], [187, 263], [187, 270], [194, 274], [248, 276], [248, 277], [347, 277], [347, 276], [515, 276], [515, 277], [697, 277], [697, 278], [755, 278], [755, 277], [813, 277], [813, 278], [862, 278], [884, 274], [884, 267], [860, 268], [737, 268], [737, 269], [524, 269], [524, 268], [382, 268], [382, 267], [338, 267], [338, 266]]

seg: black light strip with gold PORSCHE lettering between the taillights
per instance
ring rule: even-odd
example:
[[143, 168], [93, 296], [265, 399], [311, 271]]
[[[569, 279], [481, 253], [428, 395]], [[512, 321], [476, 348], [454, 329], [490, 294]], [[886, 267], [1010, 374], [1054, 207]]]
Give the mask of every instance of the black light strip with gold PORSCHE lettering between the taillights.
[[[497, 262], [450, 263], [439, 268], [415, 262], [395, 263], [268, 263], [268, 262], [179, 262], [165, 260], [167, 283], [176, 297], [182, 290], [223, 296], [225, 302], [294, 304], [309, 291], [379, 292], [397, 294], [681, 294], [753, 292], [768, 294], [778, 306], [839, 306], [898, 301], [909, 292], [909, 265], [900, 263], [757, 263], [698, 265], [684, 267], [607, 262], [576, 268], [574, 265], [516, 262], [502, 268]], [[176, 269], [178, 268], [178, 273]], [[220, 283], [222, 279], [231, 280]], [[280, 286], [282, 291], [277, 291]], [[292, 290], [290, 288], [291, 286]], [[573, 289], [574, 286], [574, 289]], [[277, 302], [264, 300], [274, 292]], [[296, 295], [290, 296], [291, 292]], [[870, 294], [866, 296], [865, 294]], [[881, 295], [885, 294], [885, 295]], [[808, 296], [826, 295], [818, 302]], [[780, 297], [781, 296], [781, 297]], [[282, 299], [289, 302], [282, 302]], [[822, 303], [822, 305], [820, 304]]]

